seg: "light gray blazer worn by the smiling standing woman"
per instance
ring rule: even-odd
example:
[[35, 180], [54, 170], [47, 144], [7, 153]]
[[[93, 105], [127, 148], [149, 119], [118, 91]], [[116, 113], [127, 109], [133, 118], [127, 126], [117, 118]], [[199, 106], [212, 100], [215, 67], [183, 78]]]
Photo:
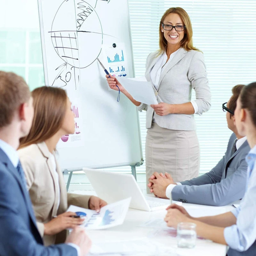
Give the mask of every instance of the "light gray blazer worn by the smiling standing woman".
[[[146, 79], [150, 80], [149, 72], [156, 64], [159, 51], [148, 55], [146, 61]], [[151, 81], [152, 83], [152, 81]], [[179, 52], [164, 68], [159, 78], [159, 88], [156, 91], [157, 101], [168, 104], [182, 104], [191, 100], [192, 88], [196, 91], [198, 114], [202, 115], [211, 107], [211, 93], [208, 85], [207, 73], [204, 64], [204, 55], [198, 51], [186, 51], [180, 48]], [[154, 109], [149, 105], [141, 104], [138, 110], [147, 111], [146, 128], [151, 127]], [[156, 123], [163, 128], [181, 131], [196, 130], [194, 115], [169, 114], [166, 116], [154, 115]]]

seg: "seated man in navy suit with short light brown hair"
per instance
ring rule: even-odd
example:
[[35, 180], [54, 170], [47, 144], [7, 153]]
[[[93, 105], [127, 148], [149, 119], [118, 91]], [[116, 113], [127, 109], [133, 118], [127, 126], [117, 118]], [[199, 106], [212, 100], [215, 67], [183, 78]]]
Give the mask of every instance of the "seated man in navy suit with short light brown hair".
[[65, 244], [44, 246], [16, 149], [30, 130], [34, 109], [28, 85], [0, 71], [0, 255], [84, 256], [91, 240], [75, 228]]

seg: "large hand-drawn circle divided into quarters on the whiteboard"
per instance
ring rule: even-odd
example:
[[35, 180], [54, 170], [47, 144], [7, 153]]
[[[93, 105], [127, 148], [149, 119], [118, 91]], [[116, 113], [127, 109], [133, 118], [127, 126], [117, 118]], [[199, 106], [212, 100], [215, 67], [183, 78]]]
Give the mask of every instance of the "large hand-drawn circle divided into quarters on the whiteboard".
[[99, 56], [102, 26], [95, 9], [83, 0], [65, 0], [52, 21], [52, 44], [62, 60], [86, 68]]

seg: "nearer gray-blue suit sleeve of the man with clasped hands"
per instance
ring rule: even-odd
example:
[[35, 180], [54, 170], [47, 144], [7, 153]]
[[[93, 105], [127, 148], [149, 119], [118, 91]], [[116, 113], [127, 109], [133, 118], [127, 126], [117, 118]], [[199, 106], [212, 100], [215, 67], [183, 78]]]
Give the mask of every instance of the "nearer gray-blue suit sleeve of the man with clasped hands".
[[175, 186], [172, 199], [184, 199], [192, 204], [222, 206], [243, 198], [245, 193], [247, 164], [243, 159], [238, 169], [226, 179], [215, 184], [201, 186]]

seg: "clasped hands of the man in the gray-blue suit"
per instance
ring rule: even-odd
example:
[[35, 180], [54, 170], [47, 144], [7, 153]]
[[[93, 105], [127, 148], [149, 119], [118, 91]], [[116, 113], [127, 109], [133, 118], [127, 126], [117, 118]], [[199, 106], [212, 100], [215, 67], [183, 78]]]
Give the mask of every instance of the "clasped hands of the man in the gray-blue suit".
[[170, 184], [176, 185], [176, 183], [174, 183], [172, 179], [172, 176], [167, 172], [165, 172], [165, 174], [158, 174], [158, 172], [154, 172], [153, 175], [151, 175], [151, 177], [148, 179], [148, 181], [148, 187], [150, 188], [150, 192], [153, 192], [156, 196], [159, 196], [161, 198], [167, 198], [165, 191]]

